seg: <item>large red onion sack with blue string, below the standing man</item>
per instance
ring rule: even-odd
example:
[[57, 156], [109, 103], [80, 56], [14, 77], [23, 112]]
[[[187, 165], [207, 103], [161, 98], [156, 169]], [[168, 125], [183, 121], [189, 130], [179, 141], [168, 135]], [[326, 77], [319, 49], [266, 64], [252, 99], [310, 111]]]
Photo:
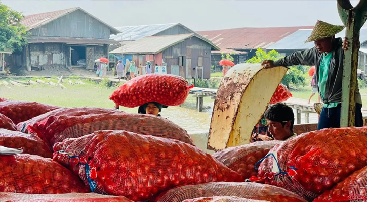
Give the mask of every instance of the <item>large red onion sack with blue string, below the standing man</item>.
[[258, 180], [311, 201], [367, 165], [366, 135], [365, 127], [303, 133], [269, 151]]

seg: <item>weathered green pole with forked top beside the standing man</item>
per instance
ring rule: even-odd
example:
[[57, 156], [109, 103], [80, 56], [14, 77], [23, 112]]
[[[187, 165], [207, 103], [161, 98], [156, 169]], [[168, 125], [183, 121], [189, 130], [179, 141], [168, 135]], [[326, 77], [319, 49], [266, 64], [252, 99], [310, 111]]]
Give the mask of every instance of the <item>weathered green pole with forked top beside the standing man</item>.
[[350, 0], [337, 0], [337, 4], [340, 19], [346, 27], [345, 37], [351, 41], [348, 50], [344, 51], [340, 126], [351, 127], [355, 123], [359, 33], [367, 20], [367, 0], [360, 0], [354, 8]]

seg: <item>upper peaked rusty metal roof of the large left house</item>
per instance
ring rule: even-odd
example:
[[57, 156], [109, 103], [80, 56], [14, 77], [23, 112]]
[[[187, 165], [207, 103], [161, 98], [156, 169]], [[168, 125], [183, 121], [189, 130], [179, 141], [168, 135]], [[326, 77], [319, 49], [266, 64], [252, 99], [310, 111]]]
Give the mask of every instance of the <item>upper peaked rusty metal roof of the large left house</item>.
[[74, 11], [83, 11], [84, 13], [92, 16], [94, 19], [98, 20], [99, 22], [101, 22], [102, 24], [106, 25], [107, 27], [110, 28], [111, 30], [111, 34], [118, 34], [121, 33], [120, 31], [118, 31], [117, 29], [115, 29], [114, 27], [108, 25], [107, 23], [103, 22], [102, 20], [96, 18], [95, 16], [93, 16], [92, 14], [88, 13], [87, 11], [76, 7], [76, 8], [71, 8], [71, 9], [65, 9], [65, 10], [60, 10], [60, 11], [52, 11], [52, 12], [47, 12], [47, 13], [39, 13], [39, 14], [34, 14], [34, 15], [29, 15], [29, 16], [25, 16], [20, 23], [24, 26], [27, 27], [27, 31], [37, 28], [41, 25], [47, 24], [53, 20], [56, 20], [64, 15], [67, 15], [71, 12]]

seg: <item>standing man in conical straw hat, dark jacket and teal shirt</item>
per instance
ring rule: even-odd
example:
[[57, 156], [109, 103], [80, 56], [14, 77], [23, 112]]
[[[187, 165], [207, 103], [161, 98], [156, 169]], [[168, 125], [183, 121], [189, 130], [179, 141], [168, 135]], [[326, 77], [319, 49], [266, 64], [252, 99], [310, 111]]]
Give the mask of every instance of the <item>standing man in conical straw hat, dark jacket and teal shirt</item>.
[[[265, 60], [262, 63], [265, 68], [292, 65], [316, 66], [318, 92], [324, 103], [318, 120], [318, 130], [340, 127], [344, 49], [347, 49], [348, 42], [343, 43], [342, 38], [335, 38], [335, 34], [343, 29], [344, 26], [319, 20], [305, 42], [314, 41], [315, 47], [295, 52], [276, 61]], [[363, 126], [362, 99], [358, 86], [356, 92], [355, 126], [361, 127]]]

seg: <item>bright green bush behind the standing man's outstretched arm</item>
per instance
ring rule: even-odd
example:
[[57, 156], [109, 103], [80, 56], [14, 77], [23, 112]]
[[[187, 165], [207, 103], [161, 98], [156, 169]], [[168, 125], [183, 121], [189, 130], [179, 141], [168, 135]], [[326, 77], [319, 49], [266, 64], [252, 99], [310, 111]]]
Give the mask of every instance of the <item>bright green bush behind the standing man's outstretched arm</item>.
[[[256, 53], [256, 56], [247, 60], [247, 63], [261, 63], [264, 60], [277, 60], [282, 58], [281, 55], [275, 51], [269, 51], [265, 53], [261, 48], [259, 48]], [[290, 85], [295, 87], [298, 86], [305, 86], [306, 85], [306, 78], [304, 73], [307, 72], [308, 68], [303, 67], [302, 65], [298, 66], [291, 66], [290, 69], [287, 71], [287, 74], [284, 76], [283, 80], [281, 81], [282, 84], [286, 85], [288, 88]]]

